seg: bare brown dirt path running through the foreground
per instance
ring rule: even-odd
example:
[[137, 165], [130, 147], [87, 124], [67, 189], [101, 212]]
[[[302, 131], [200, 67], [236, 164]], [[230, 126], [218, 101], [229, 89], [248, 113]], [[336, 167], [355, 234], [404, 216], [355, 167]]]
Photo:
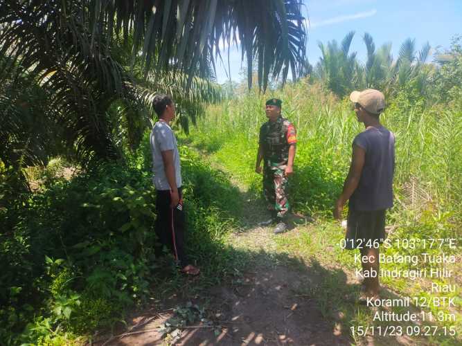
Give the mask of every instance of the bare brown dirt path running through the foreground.
[[[253, 243], [263, 237], [270, 238], [271, 231], [256, 228], [236, 236], [236, 242], [245, 246], [247, 241]], [[263, 243], [266, 249], [272, 246], [266, 239]], [[198, 328], [184, 329], [177, 340], [170, 338], [174, 345], [350, 345], [349, 338], [323, 318], [310, 295], [297, 294], [315, 284], [319, 275], [302, 275], [292, 266], [278, 264], [276, 255], [272, 263], [259, 263], [267, 259], [263, 257], [256, 258], [254, 270], [243, 273], [238, 282], [225, 282], [208, 290], [208, 316], [217, 327], [196, 323]], [[171, 311], [159, 313], [137, 329], [149, 332], [125, 336], [107, 345], [162, 345], [161, 333], [156, 329], [172, 315]], [[132, 326], [143, 318], [134, 318]], [[164, 344], [169, 344], [168, 339]]]

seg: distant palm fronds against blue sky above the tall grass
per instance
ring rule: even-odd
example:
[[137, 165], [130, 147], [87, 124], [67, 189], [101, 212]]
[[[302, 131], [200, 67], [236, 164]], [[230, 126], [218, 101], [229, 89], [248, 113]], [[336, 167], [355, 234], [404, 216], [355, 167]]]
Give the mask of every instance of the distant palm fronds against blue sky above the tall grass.
[[[420, 51], [416, 51], [415, 39], [406, 39], [400, 46], [399, 55], [393, 60], [391, 43], [375, 49], [373, 37], [365, 33], [362, 37], [367, 51], [367, 60], [359, 62], [356, 52], [350, 53], [350, 45], [355, 37], [351, 31], [340, 45], [335, 40], [327, 45], [319, 42], [321, 57], [314, 68], [308, 64], [305, 73], [321, 80], [324, 85], [339, 97], [348, 95], [351, 90], [373, 88], [379, 89], [387, 97], [395, 96], [406, 84], [413, 84], [413, 89], [427, 99], [435, 100], [430, 86], [434, 81], [436, 66], [427, 64], [432, 47], [427, 42]], [[454, 51], [453, 47], [453, 51]], [[447, 55], [434, 52], [436, 61], [443, 62]]]

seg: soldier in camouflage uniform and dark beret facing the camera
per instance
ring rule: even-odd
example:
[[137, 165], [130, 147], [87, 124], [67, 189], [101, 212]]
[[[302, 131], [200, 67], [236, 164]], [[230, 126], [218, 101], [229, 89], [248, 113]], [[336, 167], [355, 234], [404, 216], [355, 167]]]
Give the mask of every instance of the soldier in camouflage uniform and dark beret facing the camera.
[[262, 225], [277, 222], [275, 234], [287, 230], [287, 214], [290, 209], [287, 178], [293, 172], [296, 149], [296, 131], [294, 125], [281, 116], [281, 104], [282, 101], [277, 98], [266, 102], [268, 121], [260, 127], [255, 166], [255, 171], [261, 173], [260, 164], [263, 160], [263, 191], [272, 219]]

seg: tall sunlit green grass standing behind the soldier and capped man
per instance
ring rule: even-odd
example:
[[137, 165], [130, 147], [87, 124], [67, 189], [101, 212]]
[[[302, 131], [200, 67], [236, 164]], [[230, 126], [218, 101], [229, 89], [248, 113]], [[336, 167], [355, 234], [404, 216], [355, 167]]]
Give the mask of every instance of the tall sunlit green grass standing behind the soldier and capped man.
[[[302, 212], [326, 214], [350, 163], [351, 143], [364, 129], [348, 100], [338, 100], [321, 84], [301, 80], [285, 89], [260, 95], [250, 91], [210, 107], [193, 130], [193, 141], [215, 153], [237, 176], [258, 191], [254, 174], [258, 130], [266, 121], [267, 98], [283, 100], [283, 116], [298, 134], [294, 206]], [[396, 134], [395, 190], [398, 206], [450, 213], [460, 222], [462, 192], [462, 111], [455, 104], [423, 107], [402, 92], [380, 120]]]

